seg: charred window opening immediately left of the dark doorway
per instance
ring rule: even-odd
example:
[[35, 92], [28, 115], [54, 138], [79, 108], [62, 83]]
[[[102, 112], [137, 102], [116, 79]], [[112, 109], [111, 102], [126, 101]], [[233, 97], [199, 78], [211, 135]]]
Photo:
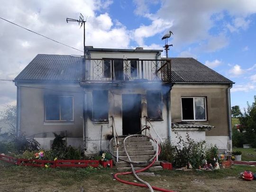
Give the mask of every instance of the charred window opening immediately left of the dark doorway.
[[92, 120], [109, 121], [109, 92], [106, 90], [92, 92]]

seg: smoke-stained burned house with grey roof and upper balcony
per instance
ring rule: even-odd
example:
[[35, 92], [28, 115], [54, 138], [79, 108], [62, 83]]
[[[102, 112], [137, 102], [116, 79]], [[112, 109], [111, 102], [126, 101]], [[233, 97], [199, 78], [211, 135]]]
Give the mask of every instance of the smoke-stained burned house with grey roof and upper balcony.
[[38, 54], [15, 78], [17, 133], [45, 149], [62, 134], [90, 154], [105, 150], [114, 132], [136, 134], [150, 121], [162, 139], [175, 141], [176, 130], [230, 150], [233, 82], [161, 51], [88, 46], [85, 58]]

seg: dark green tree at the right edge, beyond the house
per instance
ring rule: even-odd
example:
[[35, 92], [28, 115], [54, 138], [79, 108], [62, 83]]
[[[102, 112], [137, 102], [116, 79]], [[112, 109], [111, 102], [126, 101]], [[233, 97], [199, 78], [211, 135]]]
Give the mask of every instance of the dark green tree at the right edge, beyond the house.
[[252, 144], [253, 147], [256, 147], [256, 96], [254, 96], [252, 105], [247, 102], [247, 110], [238, 118], [245, 130], [246, 143], [244, 144]]

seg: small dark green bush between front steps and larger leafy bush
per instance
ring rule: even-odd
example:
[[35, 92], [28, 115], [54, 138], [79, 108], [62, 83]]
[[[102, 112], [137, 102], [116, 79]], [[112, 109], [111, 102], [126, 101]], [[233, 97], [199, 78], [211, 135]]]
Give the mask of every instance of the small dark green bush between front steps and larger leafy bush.
[[160, 144], [161, 152], [159, 154], [159, 160], [173, 162], [174, 159], [174, 146], [169, 139], [166, 139]]

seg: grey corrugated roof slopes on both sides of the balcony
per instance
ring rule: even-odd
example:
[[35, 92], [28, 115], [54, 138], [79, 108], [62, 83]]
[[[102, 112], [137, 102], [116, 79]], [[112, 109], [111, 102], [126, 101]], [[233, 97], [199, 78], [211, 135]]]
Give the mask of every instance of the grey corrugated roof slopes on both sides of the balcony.
[[[171, 58], [173, 83], [233, 83], [194, 58]], [[18, 80], [81, 81], [82, 56], [38, 54]]]

